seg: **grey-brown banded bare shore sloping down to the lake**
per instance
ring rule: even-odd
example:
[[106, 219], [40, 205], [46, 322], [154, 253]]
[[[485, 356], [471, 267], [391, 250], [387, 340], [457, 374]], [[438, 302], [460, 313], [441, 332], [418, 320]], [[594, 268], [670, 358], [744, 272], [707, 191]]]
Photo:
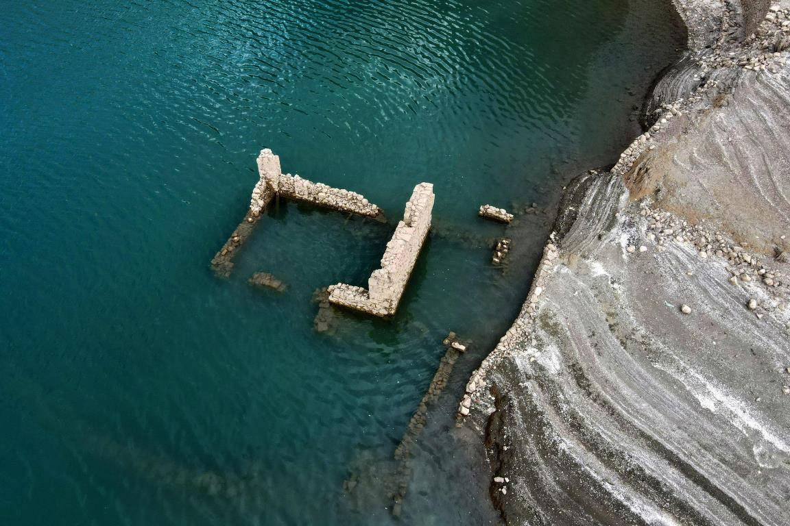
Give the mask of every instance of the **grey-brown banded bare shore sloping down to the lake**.
[[675, 4], [686, 57], [459, 406], [507, 524], [790, 524], [790, 2]]

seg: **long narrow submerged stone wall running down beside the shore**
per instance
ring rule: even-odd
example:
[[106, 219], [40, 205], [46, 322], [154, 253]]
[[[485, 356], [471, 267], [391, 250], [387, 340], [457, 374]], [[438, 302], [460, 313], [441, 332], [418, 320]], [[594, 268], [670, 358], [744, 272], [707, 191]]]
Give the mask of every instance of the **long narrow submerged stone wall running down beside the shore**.
[[447, 382], [450, 380], [450, 373], [453, 372], [453, 366], [458, 360], [458, 356], [466, 352], [468, 342], [461, 341], [454, 332], [450, 332], [447, 338], [442, 341], [442, 345], [447, 349], [446, 353], [439, 362], [434, 378], [431, 379], [431, 385], [428, 386], [428, 390], [419, 402], [416, 412], [412, 415], [412, 420], [409, 420], [408, 428], [401, 439], [401, 443], [395, 449], [395, 460], [400, 463], [397, 470], [400, 483], [398, 483], [397, 490], [392, 496], [392, 513], [396, 517], [401, 515], [401, 502], [403, 502], [406, 491], [408, 491], [408, 479], [412, 473], [409, 462], [411, 448], [427, 423], [428, 405], [438, 401], [439, 395], [442, 394], [442, 390], [444, 390]]

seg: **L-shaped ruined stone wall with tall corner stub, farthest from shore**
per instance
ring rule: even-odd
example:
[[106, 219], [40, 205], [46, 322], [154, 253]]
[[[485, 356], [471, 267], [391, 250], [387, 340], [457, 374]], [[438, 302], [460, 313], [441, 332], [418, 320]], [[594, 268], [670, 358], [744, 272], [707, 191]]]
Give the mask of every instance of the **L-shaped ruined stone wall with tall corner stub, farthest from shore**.
[[261, 150], [258, 155], [258, 182], [252, 190], [250, 210], [239, 226], [220, 248], [220, 252], [211, 260], [211, 266], [217, 275], [228, 277], [233, 270], [233, 259], [239, 253], [239, 248], [247, 237], [250, 237], [254, 226], [261, 218], [261, 214], [273, 200], [274, 196], [286, 199], [313, 203], [318, 207], [332, 210], [350, 212], [375, 218], [382, 211], [376, 205], [368, 202], [364, 196], [356, 192], [349, 192], [342, 188], [332, 188], [322, 183], [307, 181], [298, 175], [282, 173], [280, 157], [274, 155], [269, 148]]

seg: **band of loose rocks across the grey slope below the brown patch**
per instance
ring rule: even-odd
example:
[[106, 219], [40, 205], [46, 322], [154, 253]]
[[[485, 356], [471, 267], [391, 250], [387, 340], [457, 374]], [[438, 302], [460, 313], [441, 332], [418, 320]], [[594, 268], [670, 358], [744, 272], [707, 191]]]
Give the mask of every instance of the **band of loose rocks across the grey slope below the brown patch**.
[[[700, 259], [714, 256], [726, 259], [729, 282], [752, 292], [746, 307], [755, 311], [758, 318], [773, 313], [787, 321], [790, 287], [784, 282], [784, 274], [767, 265], [762, 256], [751, 252], [748, 243], [735, 243], [725, 233], [691, 225], [669, 212], [652, 209], [647, 201], [642, 201], [640, 207], [639, 213], [645, 218], [645, 238], [657, 245], [656, 252], [663, 252], [671, 242], [687, 243], [694, 246]], [[634, 248], [631, 244], [627, 250], [635, 252]], [[756, 294], [754, 287], [762, 287], [764, 294]], [[786, 326], [790, 329], [790, 324]]]

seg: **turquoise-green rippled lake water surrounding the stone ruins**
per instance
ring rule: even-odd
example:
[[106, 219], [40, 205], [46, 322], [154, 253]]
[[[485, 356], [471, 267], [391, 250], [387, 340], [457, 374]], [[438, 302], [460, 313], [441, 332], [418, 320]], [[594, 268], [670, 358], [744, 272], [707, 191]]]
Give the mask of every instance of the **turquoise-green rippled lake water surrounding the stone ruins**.
[[[0, 524], [389, 524], [393, 452], [450, 330], [472, 345], [401, 524], [496, 520], [453, 412], [562, 185], [639, 132], [685, 43], [668, 4], [0, 0]], [[280, 202], [213, 276], [262, 147], [389, 218], [434, 183], [393, 319], [318, 334], [310, 301], [365, 285], [392, 220]], [[483, 203], [537, 213], [506, 228]], [[258, 270], [288, 289], [251, 289]]]

